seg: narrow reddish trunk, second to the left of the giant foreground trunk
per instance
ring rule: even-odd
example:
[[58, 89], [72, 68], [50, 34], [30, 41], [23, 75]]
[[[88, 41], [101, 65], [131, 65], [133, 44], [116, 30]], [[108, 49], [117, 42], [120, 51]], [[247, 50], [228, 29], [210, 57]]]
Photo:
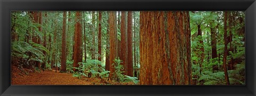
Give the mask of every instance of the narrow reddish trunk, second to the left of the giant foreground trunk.
[[126, 62], [127, 62], [127, 29], [126, 29], [126, 12], [122, 11], [121, 15], [121, 55], [120, 55], [120, 60], [123, 62], [121, 63], [124, 66], [124, 69], [121, 71], [124, 71], [124, 75], [127, 75], [127, 70], [126, 70]]

